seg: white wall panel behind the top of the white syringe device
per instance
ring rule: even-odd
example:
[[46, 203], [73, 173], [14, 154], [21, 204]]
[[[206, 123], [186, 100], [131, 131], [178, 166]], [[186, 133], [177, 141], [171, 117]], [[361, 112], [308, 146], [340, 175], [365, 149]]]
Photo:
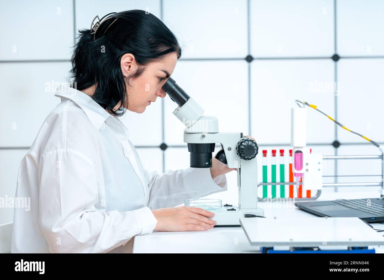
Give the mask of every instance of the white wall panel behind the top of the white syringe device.
[[[295, 100], [334, 114], [333, 62], [329, 60], [257, 60], [252, 63], [252, 132], [261, 143], [290, 143]], [[329, 86], [328, 86], [329, 85]], [[331, 143], [334, 124], [307, 109], [307, 142]], [[321, 129], [319, 129], [321, 128]]]

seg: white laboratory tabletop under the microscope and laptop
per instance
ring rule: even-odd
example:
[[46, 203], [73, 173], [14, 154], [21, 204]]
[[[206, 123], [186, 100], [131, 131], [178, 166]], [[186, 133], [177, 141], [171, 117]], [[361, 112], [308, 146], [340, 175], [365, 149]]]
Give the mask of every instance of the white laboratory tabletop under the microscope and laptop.
[[[317, 200], [358, 199], [380, 197], [379, 192], [328, 192]], [[225, 203], [225, 202], [223, 202]], [[270, 202], [258, 202], [265, 217], [317, 217], [297, 207], [278, 207]], [[258, 218], [250, 218], [258, 219]], [[383, 224], [371, 224], [384, 229]], [[368, 225], [367, 225], [368, 227]], [[373, 230], [373, 229], [372, 229]], [[372, 246], [377, 253], [384, 253], [384, 246]], [[371, 247], [369, 247], [371, 248]], [[157, 232], [137, 235], [133, 253], [260, 253], [260, 247], [249, 244], [241, 227], [214, 227], [203, 232]]]

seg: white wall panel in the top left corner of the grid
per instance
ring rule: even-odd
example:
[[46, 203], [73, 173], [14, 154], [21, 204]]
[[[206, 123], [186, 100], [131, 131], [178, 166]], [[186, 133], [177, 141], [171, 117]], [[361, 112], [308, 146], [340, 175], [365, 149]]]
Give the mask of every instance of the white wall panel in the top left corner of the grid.
[[68, 59], [73, 45], [73, 2], [1, 1], [0, 60]]

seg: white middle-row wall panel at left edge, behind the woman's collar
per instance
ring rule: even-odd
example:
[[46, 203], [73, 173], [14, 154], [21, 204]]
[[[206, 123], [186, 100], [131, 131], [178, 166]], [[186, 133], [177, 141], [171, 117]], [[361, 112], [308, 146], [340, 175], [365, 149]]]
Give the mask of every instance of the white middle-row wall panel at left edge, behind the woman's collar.
[[0, 146], [30, 146], [48, 113], [60, 103], [55, 88], [66, 81], [68, 62], [0, 63], [3, 104]]

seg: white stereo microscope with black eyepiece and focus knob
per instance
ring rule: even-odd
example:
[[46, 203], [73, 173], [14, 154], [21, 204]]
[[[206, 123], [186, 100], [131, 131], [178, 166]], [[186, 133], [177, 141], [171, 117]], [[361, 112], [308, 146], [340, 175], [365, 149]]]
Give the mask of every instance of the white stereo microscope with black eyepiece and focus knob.
[[215, 213], [217, 226], [240, 226], [240, 218], [263, 216], [264, 210], [257, 207], [257, 143], [243, 133], [220, 133], [214, 116], [203, 116], [204, 109], [172, 78], [162, 89], [177, 103], [173, 114], [185, 125], [184, 142], [190, 152], [190, 167], [212, 167], [212, 152], [215, 144], [222, 149], [216, 159], [229, 168], [237, 169], [238, 206], [223, 205]]

